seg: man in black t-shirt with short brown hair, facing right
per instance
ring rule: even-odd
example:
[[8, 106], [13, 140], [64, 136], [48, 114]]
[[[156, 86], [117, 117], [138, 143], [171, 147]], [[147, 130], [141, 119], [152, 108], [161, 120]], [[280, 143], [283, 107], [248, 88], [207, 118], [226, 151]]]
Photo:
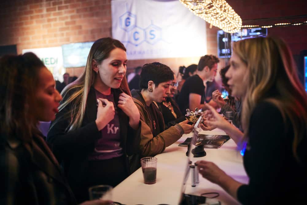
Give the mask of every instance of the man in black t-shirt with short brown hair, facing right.
[[178, 97], [178, 105], [182, 114], [186, 114], [187, 108], [191, 111], [194, 111], [195, 108], [206, 109], [204, 85], [207, 81], [214, 81], [218, 62], [220, 60], [214, 55], [205, 55], [200, 58], [196, 75], [185, 81]]

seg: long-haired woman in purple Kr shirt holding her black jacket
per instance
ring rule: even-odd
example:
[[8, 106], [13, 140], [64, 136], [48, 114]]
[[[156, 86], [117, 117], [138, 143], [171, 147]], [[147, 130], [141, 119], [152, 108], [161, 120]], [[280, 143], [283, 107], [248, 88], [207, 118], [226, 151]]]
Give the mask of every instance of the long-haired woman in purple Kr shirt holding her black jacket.
[[127, 85], [126, 48], [112, 38], [94, 42], [82, 75], [62, 91], [47, 142], [61, 162], [78, 201], [88, 187], [116, 186], [138, 153], [140, 114]]

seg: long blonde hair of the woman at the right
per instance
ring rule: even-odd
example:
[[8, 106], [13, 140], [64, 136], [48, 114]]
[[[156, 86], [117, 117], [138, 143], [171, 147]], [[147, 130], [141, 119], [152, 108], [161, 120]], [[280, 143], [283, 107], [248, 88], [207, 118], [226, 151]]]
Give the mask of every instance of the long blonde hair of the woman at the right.
[[[274, 104], [288, 118], [294, 131], [293, 155], [306, 135], [307, 94], [299, 81], [292, 53], [286, 43], [276, 37], [258, 37], [234, 42], [233, 52], [247, 65], [247, 90], [243, 99], [242, 125], [247, 140], [250, 117], [256, 104]], [[274, 93], [274, 94], [272, 94]]]

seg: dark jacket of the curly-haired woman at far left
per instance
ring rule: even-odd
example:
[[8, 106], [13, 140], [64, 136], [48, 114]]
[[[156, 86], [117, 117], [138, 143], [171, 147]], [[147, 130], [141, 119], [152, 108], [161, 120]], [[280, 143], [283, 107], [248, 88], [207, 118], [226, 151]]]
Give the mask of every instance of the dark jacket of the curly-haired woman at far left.
[[76, 200], [43, 136], [30, 143], [0, 137], [0, 204], [67, 205]]

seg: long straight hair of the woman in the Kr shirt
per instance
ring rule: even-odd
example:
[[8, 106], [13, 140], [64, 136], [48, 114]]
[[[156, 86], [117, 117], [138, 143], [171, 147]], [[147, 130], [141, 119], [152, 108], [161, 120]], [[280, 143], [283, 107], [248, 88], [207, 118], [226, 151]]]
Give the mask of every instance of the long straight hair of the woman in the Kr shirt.
[[[97, 64], [101, 64], [104, 59], [109, 57], [110, 52], [115, 48], [120, 48], [126, 51], [125, 46], [120, 41], [110, 37], [100, 38], [95, 41], [88, 54], [83, 73], [76, 81], [67, 85], [61, 92], [63, 100], [59, 106], [60, 111], [73, 101], [72, 107], [68, 113], [64, 114], [64, 116], [70, 117], [69, 125], [67, 128], [68, 131], [72, 131], [81, 127], [85, 114], [87, 96], [91, 86], [94, 84], [94, 80], [97, 75], [92, 69], [93, 59], [97, 62]], [[131, 96], [126, 77], [123, 78], [119, 88]], [[72, 94], [69, 94], [68, 96], [68, 93]], [[54, 124], [56, 124], [56, 121], [53, 123], [53, 125]]]

